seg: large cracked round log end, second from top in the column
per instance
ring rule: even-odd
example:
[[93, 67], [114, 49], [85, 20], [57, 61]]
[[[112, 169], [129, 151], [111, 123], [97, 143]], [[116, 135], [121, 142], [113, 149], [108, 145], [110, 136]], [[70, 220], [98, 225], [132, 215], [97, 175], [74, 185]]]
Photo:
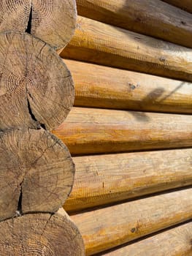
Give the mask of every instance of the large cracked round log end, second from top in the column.
[[0, 34], [0, 129], [53, 129], [74, 102], [74, 84], [64, 61], [29, 34]]

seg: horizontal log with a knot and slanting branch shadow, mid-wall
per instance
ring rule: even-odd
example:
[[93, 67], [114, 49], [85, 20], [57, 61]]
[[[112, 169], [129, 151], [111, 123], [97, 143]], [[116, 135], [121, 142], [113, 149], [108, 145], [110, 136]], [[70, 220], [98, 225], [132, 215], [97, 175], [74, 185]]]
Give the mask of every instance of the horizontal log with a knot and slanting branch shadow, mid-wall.
[[75, 84], [74, 105], [169, 113], [192, 113], [192, 84], [65, 60]]

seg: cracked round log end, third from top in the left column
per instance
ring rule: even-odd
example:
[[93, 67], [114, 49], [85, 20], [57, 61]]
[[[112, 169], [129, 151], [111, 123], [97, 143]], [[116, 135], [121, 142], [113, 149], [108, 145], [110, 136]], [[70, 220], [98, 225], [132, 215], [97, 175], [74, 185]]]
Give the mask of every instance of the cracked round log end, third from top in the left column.
[[74, 182], [66, 146], [44, 129], [0, 133], [0, 220], [20, 212], [55, 212]]

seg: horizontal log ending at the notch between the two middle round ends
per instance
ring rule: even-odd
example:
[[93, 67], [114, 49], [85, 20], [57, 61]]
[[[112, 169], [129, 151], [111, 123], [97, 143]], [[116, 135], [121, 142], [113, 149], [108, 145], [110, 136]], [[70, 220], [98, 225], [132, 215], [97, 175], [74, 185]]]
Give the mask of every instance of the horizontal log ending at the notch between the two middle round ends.
[[188, 115], [72, 108], [53, 133], [71, 154], [140, 151], [192, 146]]

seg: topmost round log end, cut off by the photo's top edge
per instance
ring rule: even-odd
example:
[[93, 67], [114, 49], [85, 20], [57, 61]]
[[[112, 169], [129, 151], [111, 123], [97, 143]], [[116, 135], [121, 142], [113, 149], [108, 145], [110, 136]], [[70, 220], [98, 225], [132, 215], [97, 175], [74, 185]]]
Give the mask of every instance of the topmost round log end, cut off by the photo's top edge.
[[74, 34], [75, 0], [1, 0], [0, 31], [31, 33], [54, 48], [63, 48]]

